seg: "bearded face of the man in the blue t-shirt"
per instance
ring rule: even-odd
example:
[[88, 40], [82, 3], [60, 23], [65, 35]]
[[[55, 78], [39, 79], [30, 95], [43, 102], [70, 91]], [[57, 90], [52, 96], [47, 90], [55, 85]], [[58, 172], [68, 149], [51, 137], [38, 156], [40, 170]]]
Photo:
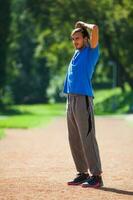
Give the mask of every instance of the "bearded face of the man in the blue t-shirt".
[[73, 45], [76, 49], [82, 49], [87, 42], [86, 39], [87, 38], [83, 38], [81, 32], [77, 32], [72, 35]]

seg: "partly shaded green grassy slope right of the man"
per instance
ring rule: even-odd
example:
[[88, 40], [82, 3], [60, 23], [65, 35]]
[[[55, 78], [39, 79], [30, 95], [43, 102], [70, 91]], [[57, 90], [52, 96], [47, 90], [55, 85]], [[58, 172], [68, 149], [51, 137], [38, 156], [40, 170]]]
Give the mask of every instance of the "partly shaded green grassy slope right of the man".
[[95, 114], [114, 115], [133, 112], [133, 92], [122, 92], [120, 88], [95, 92]]

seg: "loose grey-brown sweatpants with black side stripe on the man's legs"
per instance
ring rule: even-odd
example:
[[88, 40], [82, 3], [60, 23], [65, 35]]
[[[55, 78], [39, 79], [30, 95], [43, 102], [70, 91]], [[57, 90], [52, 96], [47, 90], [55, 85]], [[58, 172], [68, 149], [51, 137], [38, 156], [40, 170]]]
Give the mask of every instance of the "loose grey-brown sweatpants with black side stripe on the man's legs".
[[87, 172], [89, 169], [92, 175], [101, 174], [92, 97], [68, 95], [67, 125], [70, 148], [77, 171]]

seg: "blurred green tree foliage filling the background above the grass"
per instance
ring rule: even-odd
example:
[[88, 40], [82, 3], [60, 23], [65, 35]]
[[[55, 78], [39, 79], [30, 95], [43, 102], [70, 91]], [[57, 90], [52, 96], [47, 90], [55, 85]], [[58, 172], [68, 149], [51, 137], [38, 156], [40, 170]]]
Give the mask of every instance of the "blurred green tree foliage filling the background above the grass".
[[99, 26], [101, 56], [94, 86], [112, 86], [116, 66], [115, 85], [124, 90], [128, 82], [133, 88], [131, 0], [6, 0], [0, 15], [0, 24], [4, 24], [4, 28], [0, 26], [0, 92], [4, 103], [61, 100], [74, 51], [70, 33], [78, 20]]

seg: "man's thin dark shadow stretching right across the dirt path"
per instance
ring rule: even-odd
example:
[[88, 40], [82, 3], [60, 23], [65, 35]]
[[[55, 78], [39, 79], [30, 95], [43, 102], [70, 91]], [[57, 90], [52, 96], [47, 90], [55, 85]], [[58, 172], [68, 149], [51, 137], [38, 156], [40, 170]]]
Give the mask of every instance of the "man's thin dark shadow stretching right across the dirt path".
[[124, 195], [133, 195], [132, 191], [126, 191], [126, 190], [120, 190], [120, 189], [115, 189], [115, 188], [109, 188], [109, 187], [101, 187], [99, 190], [107, 191], [107, 192], [114, 192], [117, 194], [124, 194]]

